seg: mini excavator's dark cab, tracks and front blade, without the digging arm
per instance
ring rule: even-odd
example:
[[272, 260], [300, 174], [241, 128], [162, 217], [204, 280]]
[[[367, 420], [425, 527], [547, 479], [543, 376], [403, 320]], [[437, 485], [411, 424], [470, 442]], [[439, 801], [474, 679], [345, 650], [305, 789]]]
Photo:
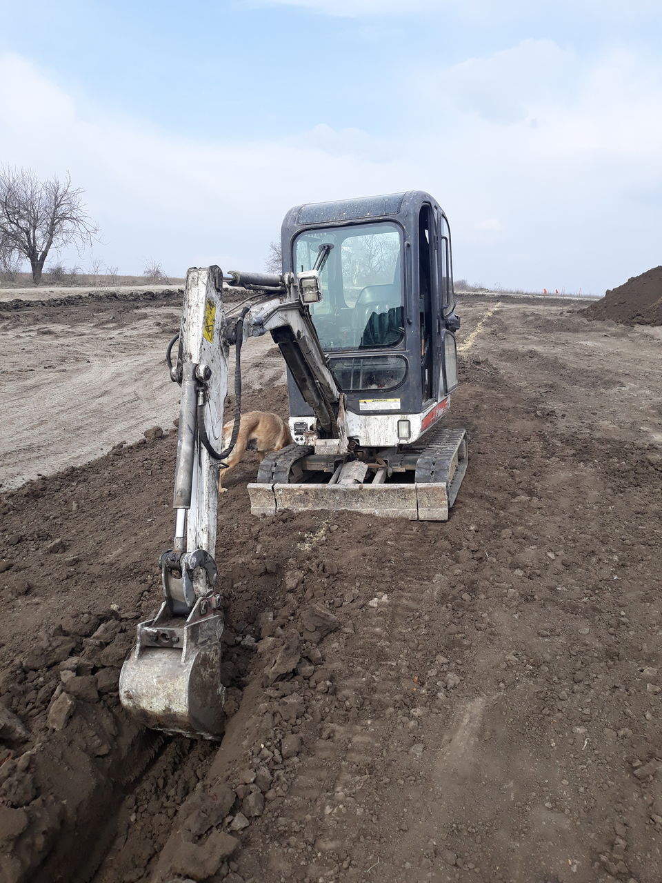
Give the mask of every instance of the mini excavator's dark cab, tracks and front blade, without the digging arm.
[[275, 334], [288, 362], [290, 432], [301, 456], [288, 450], [265, 459], [249, 485], [252, 510], [445, 520], [467, 464], [464, 431], [438, 426], [457, 386], [460, 326], [448, 219], [423, 191], [291, 208], [282, 224], [283, 270], [314, 268], [323, 246], [322, 296], [310, 315], [342, 391], [347, 448], [325, 443], [337, 433], [320, 426], [300, 366], [288, 358], [290, 344]]

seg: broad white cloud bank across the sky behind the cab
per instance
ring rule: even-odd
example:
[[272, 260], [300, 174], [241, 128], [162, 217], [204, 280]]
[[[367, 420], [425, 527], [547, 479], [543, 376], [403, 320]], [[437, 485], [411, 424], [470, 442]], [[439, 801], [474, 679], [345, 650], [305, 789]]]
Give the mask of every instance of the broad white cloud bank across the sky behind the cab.
[[96, 253], [124, 272], [149, 258], [169, 275], [258, 269], [290, 206], [418, 187], [447, 210], [456, 272], [476, 281], [600, 292], [659, 262], [658, 58], [524, 41], [421, 67], [386, 133], [329, 118], [282, 138], [182, 137], [82, 110], [15, 55], [0, 84], [2, 160], [70, 170], [102, 228]]

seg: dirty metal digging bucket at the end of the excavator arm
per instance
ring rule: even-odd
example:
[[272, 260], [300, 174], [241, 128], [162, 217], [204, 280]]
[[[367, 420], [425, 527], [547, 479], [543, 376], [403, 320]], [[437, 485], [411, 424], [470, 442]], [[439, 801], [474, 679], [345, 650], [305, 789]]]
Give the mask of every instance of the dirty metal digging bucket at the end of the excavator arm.
[[183, 625], [181, 618], [169, 616], [166, 604], [153, 620], [139, 623], [119, 694], [122, 705], [146, 727], [192, 738], [222, 736], [223, 623], [220, 614], [205, 615], [206, 604], [199, 599]]

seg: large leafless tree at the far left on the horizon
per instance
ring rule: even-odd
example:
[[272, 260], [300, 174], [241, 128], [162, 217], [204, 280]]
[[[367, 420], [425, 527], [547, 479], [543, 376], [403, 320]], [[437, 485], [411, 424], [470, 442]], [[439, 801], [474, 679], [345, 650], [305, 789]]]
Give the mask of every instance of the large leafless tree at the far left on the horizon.
[[30, 169], [0, 169], [0, 237], [11, 253], [30, 261], [35, 284], [51, 248], [91, 245], [96, 238], [99, 228], [87, 215], [83, 192], [71, 186], [69, 175], [64, 182], [41, 181]]

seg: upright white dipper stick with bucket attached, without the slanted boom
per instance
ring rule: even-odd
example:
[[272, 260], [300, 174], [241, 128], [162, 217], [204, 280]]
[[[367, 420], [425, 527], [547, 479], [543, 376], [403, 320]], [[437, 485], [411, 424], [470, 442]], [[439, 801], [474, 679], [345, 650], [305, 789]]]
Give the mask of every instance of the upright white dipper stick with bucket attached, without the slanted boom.
[[119, 680], [123, 706], [147, 727], [215, 738], [225, 689], [219, 677], [223, 620], [214, 593], [217, 467], [199, 443], [202, 411], [212, 443], [222, 441], [229, 344], [214, 268], [186, 274], [177, 365], [182, 385], [175, 474], [175, 539], [161, 556], [163, 602], [139, 623]]

